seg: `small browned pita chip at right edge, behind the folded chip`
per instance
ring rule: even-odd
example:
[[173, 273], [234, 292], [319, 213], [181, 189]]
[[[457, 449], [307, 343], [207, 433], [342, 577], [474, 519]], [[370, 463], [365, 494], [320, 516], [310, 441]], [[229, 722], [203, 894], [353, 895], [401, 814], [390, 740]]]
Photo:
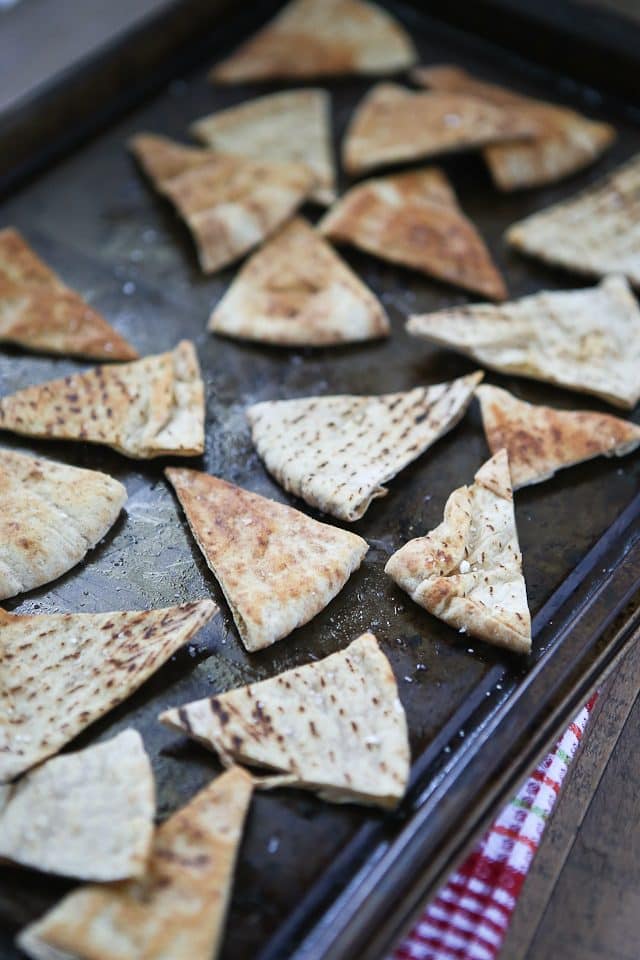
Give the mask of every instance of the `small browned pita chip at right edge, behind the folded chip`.
[[509, 454], [514, 490], [548, 480], [593, 457], [622, 457], [640, 446], [640, 426], [590, 410], [554, 410], [518, 400], [499, 387], [478, 387], [492, 453]]

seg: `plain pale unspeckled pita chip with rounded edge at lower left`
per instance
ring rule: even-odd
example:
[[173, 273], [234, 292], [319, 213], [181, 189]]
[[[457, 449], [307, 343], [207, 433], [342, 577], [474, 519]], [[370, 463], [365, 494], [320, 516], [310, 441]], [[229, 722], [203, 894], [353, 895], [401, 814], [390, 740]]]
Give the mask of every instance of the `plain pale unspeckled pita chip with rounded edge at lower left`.
[[53, 757], [7, 787], [0, 857], [81, 880], [143, 873], [155, 788], [139, 733]]

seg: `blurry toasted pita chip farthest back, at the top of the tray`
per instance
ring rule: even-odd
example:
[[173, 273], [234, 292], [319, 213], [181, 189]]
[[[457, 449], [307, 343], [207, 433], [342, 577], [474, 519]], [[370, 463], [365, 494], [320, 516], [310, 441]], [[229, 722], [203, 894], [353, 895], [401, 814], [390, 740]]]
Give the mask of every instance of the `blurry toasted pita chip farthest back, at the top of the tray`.
[[363, 0], [293, 0], [210, 73], [214, 83], [381, 74], [416, 61], [408, 34]]

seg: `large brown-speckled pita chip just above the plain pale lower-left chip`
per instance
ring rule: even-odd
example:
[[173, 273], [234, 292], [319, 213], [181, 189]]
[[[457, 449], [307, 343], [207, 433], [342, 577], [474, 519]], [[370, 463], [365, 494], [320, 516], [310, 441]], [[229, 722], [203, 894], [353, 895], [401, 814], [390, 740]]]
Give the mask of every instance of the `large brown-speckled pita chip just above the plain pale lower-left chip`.
[[211, 600], [122, 613], [2, 611], [0, 783], [126, 700], [216, 612]]

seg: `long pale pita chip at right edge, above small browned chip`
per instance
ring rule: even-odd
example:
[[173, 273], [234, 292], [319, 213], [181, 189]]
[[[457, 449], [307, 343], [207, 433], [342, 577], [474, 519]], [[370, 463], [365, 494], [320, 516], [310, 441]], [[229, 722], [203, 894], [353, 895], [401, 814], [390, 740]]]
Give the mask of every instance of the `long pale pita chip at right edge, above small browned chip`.
[[623, 277], [410, 317], [409, 333], [483, 366], [592, 393], [618, 407], [640, 398], [640, 310]]

